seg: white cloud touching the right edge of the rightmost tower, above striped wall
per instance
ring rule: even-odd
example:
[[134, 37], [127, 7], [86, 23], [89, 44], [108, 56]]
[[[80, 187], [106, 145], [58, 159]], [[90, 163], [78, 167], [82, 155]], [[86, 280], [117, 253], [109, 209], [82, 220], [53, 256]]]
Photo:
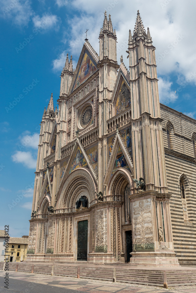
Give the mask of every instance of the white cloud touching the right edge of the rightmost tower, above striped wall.
[[158, 89], [160, 103], [168, 104], [174, 102], [178, 98], [177, 93], [171, 90], [171, 86], [172, 82], [159, 78]]

